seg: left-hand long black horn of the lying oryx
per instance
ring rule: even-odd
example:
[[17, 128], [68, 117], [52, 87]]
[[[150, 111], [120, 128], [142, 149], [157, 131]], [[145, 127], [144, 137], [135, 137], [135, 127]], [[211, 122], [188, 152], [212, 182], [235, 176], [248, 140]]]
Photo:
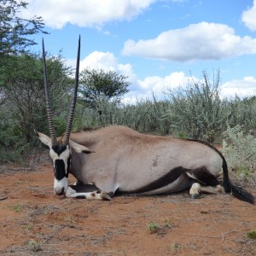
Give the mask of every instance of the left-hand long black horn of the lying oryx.
[[45, 62], [45, 54], [44, 54], [44, 38], [43, 38], [43, 67], [44, 67], [44, 93], [45, 93], [48, 125], [49, 125], [49, 135], [51, 138], [51, 143], [55, 144], [56, 143], [56, 132], [55, 132], [55, 126], [53, 124], [52, 111], [51, 111], [50, 101], [49, 101], [49, 87], [48, 87], [46, 62]]

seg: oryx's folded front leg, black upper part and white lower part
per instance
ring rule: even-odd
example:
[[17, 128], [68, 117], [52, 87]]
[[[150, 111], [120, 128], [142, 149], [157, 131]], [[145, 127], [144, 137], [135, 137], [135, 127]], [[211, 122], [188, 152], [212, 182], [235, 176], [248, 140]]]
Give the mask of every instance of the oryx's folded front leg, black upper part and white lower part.
[[87, 200], [111, 200], [111, 197], [106, 192], [98, 190], [94, 185], [71, 185], [67, 188], [65, 196]]

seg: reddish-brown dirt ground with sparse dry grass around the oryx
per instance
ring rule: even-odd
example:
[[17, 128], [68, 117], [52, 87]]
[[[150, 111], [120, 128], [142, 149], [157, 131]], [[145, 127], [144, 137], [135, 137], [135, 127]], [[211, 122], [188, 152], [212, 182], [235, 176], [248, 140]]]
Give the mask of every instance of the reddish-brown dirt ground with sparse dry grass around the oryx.
[[53, 179], [48, 162], [36, 171], [1, 166], [0, 255], [256, 255], [247, 238], [256, 207], [231, 195], [86, 201], [55, 195]]

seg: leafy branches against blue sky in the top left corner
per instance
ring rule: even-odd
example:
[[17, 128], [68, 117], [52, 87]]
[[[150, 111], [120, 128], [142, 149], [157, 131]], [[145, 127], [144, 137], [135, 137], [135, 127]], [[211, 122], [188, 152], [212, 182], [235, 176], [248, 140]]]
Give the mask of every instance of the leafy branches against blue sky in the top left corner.
[[0, 57], [24, 51], [27, 46], [36, 44], [29, 35], [44, 32], [41, 17], [31, 19], [19, 17], [20, 9], [26, 9], [28, 3], [20, 0], [0, 1]]

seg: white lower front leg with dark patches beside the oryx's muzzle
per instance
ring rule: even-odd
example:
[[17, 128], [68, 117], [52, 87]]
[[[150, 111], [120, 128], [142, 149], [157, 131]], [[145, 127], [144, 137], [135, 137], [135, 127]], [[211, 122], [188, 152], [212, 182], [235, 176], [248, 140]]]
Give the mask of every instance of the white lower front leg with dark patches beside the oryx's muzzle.
[[72, 198], [87, 199], [87, 200], [103, 200], [103, 201], [111, 200], [111, 197], [104, 191], [91, 191], [91, 192], [78, 193], [76, 190], [72, 189], [71, 187], [67, 188], [65, 196], [72, 197]]

